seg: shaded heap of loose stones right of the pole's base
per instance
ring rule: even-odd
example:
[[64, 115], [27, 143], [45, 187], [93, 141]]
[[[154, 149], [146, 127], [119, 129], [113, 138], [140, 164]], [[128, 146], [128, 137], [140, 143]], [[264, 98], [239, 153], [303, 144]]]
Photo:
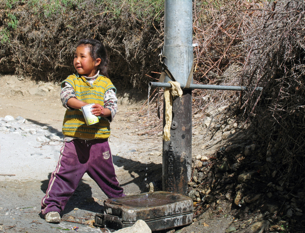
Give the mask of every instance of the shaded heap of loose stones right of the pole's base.
[[208, 114], [203, 128], [209, 140], [192, 157], [188, 195], [194, 200], [196, 217], [207, 210], [215, 216], [234, 216], [226, 232], [285, 231], [302, 221], [304, 186], [278, 179], [276, 147], [266, 150], [247, 126], [230, 118], [213, 120], [210, 116], [216, 114]]

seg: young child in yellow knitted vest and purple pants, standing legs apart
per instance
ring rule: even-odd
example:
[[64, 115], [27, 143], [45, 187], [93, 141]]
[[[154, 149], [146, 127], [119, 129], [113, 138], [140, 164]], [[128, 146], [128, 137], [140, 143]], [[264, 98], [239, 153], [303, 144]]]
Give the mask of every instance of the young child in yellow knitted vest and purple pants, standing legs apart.
[[[60, 222], [60, 212], [85, 172], [108, 198], [125, 196], [116, 179], [108, 144], [117, 99], [116, 89], [108, 78], [107, 64], [107, 51], [100, 41], [78, 42], [73, 62], [77, 74], [62, 82], [60, 94], [67, 108], [63, 123], [65, 142], [41, 202], [41, 212], [47, 222]], [[92, 113], [98, 116], [99, 122], [87, 126], [80, 109], [91, 103], [94, 103]]]

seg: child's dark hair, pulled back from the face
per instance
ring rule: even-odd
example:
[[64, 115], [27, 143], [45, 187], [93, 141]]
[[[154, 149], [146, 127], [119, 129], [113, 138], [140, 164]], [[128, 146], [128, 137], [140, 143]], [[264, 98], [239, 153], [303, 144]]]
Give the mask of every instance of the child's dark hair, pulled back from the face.
[[90, 56], [94, 60], [97, 60], [98, 58], [102, 60], [100, 65], [97, 67], [97, 70], [100, 71], [101, 75], [104, 75], [108, 78], [107, 65], [109, 60], [105, 46], [96, 39], [81, 39], [78, 41], [77, 47], [80, 45], [85, 45], [90, 48]]

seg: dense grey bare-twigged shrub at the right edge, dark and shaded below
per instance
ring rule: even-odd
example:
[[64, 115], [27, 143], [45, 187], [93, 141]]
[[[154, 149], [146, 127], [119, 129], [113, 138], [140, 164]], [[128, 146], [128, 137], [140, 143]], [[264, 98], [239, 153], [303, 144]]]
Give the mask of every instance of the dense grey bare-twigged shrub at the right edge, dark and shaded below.
[[245, 37], [248, 60], [243, 84], [262, 86], [241, 106], [273, 152], [280, 179], [302, 180], [305, 115], [305, 3], [279, 1], [255, 7]]

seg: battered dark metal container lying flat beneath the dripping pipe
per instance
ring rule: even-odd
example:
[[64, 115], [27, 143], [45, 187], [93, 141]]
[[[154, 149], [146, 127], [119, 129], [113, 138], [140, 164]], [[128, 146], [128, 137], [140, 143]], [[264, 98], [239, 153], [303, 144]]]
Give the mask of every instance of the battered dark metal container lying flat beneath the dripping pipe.
[[193, 221], [193, 200], [171, 192], [150, 192], [104, 201], [104, 213], [97, 213], [95, 225], [118, 230], [143, 220], [151, 231], [189, 225]]

